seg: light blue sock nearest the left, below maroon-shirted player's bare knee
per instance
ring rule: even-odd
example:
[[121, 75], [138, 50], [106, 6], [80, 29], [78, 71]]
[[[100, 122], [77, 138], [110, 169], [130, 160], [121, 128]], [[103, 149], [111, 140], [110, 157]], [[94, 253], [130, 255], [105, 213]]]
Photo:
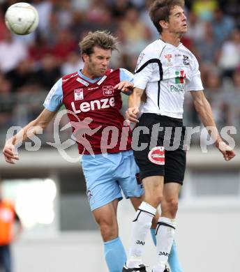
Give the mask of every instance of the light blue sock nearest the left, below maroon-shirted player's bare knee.
[[109, 271], [121, 272], [127, 257], [120, 238], [104, 242], [104, 252]]

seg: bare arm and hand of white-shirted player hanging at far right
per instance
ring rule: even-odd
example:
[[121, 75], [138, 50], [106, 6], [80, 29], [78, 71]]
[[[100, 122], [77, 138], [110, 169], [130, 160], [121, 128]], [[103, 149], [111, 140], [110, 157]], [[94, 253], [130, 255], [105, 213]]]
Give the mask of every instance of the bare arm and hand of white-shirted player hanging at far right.
[[204, 96], [203, 91], [190, 91], [193, 97], [193, 103], [195, 105], [195, 109], [197, 114], [200, 116], [200, 119], [205, 127], [207, 127], [209, 134], [216, 141], [216, 147], [218, 150], [223, 153], [223, 157], [225, 160], [231, 160], [236, 155], [232, 148], [223, 142], [223, 139], [220, 137], [218, 133], [218, 129], [216, 128], [216, 123], [213, 119], [213, 113], [211, 110], [211, 106]]

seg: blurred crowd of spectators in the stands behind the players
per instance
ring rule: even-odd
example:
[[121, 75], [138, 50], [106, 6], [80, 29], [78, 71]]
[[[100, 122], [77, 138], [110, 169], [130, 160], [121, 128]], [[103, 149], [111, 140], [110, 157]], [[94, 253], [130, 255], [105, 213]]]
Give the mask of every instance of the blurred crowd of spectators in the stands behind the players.
[[[0, 128], [26, 123], [62, 75], [82, 67], [79, 41], [89, 31], [119, 38], [112, 68], [134, 72], [137, 56], [158, 38], [148, 15], [152, 0], [33, 0], [40, 22], [27, 36], [11, 34], [4, 14], [17, 1], [0, 1]], [[238, 0], [186, 1], [188, 33], [182, 43], [197, 56], [219, 126], [240, 127], [240, 5]], [[23, 107], [20, 107], [23, 105]], [[186, 125], [200, 123], [186, 95]]]

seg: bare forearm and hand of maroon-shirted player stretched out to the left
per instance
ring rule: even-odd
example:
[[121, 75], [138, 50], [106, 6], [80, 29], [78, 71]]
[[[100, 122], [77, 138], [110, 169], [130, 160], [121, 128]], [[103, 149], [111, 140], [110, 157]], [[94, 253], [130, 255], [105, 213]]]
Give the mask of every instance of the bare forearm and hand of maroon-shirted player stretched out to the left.
[[18, 156], [15, 154], [15, 144], [22, 143], [29, 139], [31, 135], [36, 135], [41, 133], [47, 125], [52, 121], [56, 112], [50, 112], [48, 109], [43, 109], [43, 112], [33, 121], [24, 126], [16, 135], [11, 137], [6, 141], [3, 148], [3, 156], [7, 163], [14, 164], [14, 160], [19, 160]]

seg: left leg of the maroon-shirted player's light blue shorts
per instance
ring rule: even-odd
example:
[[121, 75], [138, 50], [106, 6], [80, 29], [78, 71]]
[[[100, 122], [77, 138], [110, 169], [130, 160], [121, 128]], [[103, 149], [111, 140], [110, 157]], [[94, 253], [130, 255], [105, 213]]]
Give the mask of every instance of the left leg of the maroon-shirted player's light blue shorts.
[[82, 169], [91, 211], [105, 206], [114, 199], [122, 199], [121, 189], [113, 176], [114, 167], [110, 159], [96, 156], [93, 160], [83, 160]]

